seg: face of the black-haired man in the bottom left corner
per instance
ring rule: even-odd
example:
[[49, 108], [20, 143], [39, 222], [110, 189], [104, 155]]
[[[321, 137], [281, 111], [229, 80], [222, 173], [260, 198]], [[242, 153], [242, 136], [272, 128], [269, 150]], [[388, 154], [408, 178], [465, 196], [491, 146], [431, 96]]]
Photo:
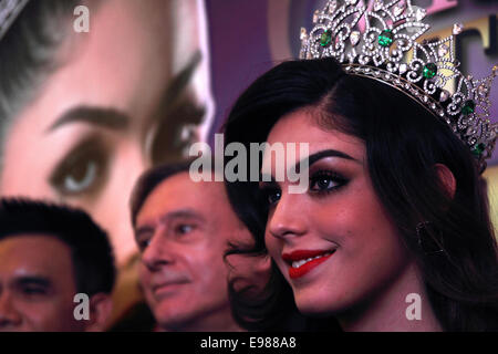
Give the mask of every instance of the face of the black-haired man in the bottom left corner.
[[0, 240], [0, 331], [82, 331], [70, 249], [50, 236]]

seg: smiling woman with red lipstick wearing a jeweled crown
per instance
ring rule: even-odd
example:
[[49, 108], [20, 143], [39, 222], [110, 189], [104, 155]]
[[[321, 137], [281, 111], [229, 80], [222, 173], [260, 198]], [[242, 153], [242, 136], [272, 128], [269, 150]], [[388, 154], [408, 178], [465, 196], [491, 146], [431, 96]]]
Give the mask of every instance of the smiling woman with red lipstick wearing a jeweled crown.
[[478, 111], [492, 75], [463, 76], [453, 38], [403, 34], [427, 29], [409, 1], [356, 2], [329, 1], [302, 37], [307, 60], [263, 74], [228, 117], [226, 144], [309, 147], [292, 160], [309, 165], [303, 194], [276, 180], [266, 154], [271, 181], [227, 186], [256, 237], [255, 249], [228, 253], [268, 252], [273, 271], [259, 298], [232, 290], [235, 313], [252, 330], [297, 309], [343, 331], [497, 331], [497, 244], [480, 186], [497, 127]]

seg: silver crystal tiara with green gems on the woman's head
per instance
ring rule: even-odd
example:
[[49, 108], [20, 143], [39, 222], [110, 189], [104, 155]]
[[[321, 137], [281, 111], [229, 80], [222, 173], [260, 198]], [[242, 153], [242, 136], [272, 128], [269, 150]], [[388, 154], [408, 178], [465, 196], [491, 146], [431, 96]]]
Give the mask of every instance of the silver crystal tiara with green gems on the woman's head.
[[489, 92], [498, 67], [476, 80], [464, 75], [455, 59], [453, 28], [443, 40], [417, 41], [429, 25], [426, 11], [411, 0], [329, 0], [313, 14], [314, 28], [301, 29], [301, 59], [334, 58], [345, 72], [388, 84], [446, 122], [486, 168], [498, 134], [489, 121]]

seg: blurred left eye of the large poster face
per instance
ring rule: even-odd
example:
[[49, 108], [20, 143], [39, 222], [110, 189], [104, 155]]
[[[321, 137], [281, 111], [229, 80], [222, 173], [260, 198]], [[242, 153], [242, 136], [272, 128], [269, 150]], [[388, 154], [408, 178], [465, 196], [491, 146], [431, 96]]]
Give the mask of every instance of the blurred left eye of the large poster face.
[[63, 196], [90, 192], [104, 177], [107, 160], [105, 155], [105, 149], [100, 145], [80, 145], [59, 164], [50, 184]]

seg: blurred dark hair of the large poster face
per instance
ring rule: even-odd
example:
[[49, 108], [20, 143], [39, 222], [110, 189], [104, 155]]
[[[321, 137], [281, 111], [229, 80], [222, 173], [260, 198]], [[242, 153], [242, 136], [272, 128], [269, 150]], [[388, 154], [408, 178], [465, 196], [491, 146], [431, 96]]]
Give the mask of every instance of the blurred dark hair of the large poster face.
[[[58, 52], [72, 33], [74, 8], [85, 0], [29, 1], [0, 41], [0, 137], [63, 64]], [[3, 144], [0, 144], [0, 155]]]

